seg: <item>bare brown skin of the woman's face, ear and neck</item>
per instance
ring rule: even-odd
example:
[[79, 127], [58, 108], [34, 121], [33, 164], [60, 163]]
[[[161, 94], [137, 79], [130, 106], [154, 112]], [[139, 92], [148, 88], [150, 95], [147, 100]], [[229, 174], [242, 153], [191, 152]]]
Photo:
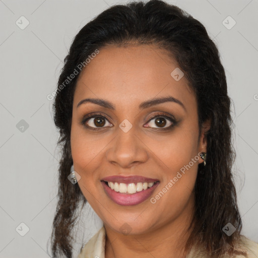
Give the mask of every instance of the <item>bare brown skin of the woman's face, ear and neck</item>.
[[[71, 148], [75, 171], [81, 176], [78, 184], [106, 229], [105, 258], [185, 257], [183, 247], [189, 236], [187, 228], [195, 206], [193, 188], [201, 158], [155, 204], [149, 198], [139, 205], [120, 206], [108, 198], [100, 180], [111, 175], [158, 178], [160, 184], [151, 198], [155, 197], [180, 168], [199, 152], [207, 151], [205, 133], [210, 122], [203, 124], [199, 140], [196, 97], [185, 77], [175, 81], [170, 76], [178, 64], [165, 50], [155, 45], [106, 46], [99, 50], [77, 82]], [[144, 101], [167, 96], [180, 100], [185, 109], [175, 102], [139, 109]], [[105, 99], [115, 105], [115, 110], [89, 102], [77, 108], [86, 98]], [[80, 123], [91, 112], [107, 118], [104, 128], [92, 131]], [[178, 121], [171, 130], [163, 128], [173, 124], [168, 119], [161, 118], [166, 124], [160, 127], [155, 123], [157, 117], [149, 120], [161, 112]], [[127, 133], [119, 128], [124, 119], [133, 125]], [[94, 118], [86, 123], [99, 128]], [[120, 229], [124, 223], [130, 225], [127, 235]]]

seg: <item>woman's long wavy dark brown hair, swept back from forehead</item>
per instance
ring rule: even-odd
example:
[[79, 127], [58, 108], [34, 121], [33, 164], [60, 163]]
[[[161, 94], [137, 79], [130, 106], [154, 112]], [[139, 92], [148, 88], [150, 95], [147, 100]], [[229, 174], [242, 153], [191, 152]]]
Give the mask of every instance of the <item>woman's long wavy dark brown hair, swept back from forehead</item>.
[[[72, 257], [71, 232], [77, 221], [76, 210], [80, 201], [83, 205], [87, 202], [79, 185], [68, 180], [73, 164], [70, 145], [73, 96], [81, 74], [78, 66], [85, 64], [96, 49], [101, 51], [105, 45], [126, 47], [132, 42], [166, 49], [178, 62], [195, 93], [200, 132], [203, 122], [211, 119], [206, 166], [199, 164], [195, 185], [195, 223], [185, 250], [201, 243], [213, 257], [221, 257], [233, 250], [242, 227], [231, 173], [235, 151], [225, 71], [218, 48], [205, 27], [178, 7], [159, 0], [108, 8], [79, 31], [64, 58], [53, 103], [54, 123], [60, 134], [57, 144], [62, 156], [58, 170], [58, 203], [52, 225], [52, 255]], [[67, 83], [75, 69], [79, 74]], [[222, 230], [227, 223], [236, 228], [230, 236]]]

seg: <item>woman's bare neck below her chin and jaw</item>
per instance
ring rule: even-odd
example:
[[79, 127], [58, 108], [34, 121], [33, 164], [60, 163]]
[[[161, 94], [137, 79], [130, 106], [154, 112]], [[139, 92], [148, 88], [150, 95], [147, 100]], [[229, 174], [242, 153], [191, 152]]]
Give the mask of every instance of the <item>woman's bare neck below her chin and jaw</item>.
[[105, 258], [128, 257], [176, 257], [185, 258], [185, 243], [190, 232], [188, 228], [193, 215], [193, 205], [189, 202], [182, 213], [173, 221], [160, 225], [155, 230], [137, 235], [124, 235], [107, 225]]

